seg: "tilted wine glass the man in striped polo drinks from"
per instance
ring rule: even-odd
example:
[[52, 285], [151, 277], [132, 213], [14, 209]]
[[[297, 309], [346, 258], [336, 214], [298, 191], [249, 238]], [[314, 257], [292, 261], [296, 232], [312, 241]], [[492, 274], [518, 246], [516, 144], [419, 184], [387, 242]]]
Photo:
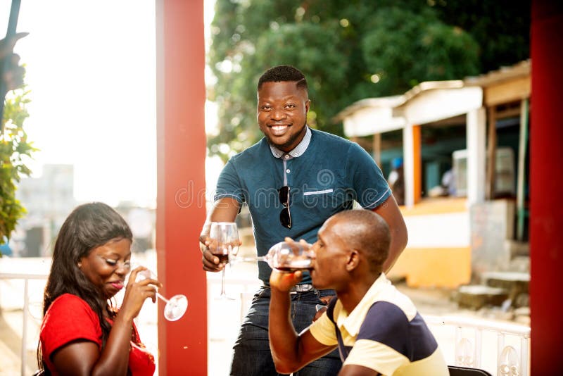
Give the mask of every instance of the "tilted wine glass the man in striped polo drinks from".
[[264, 261], [270, 268], [281, 272], [295, 272], [296, 270], [311, 270], [315, 252], [311, 244], [306, 242], [279, 242], [274, 244], [266, 256], [231, 257], [230, 262]]

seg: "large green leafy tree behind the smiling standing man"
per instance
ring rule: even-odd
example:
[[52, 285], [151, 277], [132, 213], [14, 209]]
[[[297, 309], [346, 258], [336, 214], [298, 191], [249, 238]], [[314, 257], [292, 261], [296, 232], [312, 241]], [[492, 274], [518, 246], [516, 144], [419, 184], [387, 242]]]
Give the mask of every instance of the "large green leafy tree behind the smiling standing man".
[[209, 135], [210, 153], [226, 159], [262, 137], [255, 85], [273, 65], [303, 71], [312, 100], [308, 124], [335, 134], [341, 125], [331, 119], [355, 101], [481, 73], [482, 47], [456, 15], [461, 6], [449, 4], [217, 0], [208, 55], [217, 82], [208, 89], [219, 132]]

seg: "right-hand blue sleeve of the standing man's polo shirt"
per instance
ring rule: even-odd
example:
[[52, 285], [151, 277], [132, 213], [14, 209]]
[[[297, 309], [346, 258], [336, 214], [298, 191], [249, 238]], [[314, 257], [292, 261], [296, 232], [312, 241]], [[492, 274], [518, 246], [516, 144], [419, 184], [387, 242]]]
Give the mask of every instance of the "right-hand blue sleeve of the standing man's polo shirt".
[[346, 170], [347, 176], [353, 180], [351, 183], [362, 208], [377, 208], [391, 196], [391, 189], [381, 169], [360, 145], [352, 144], [348, 149]]

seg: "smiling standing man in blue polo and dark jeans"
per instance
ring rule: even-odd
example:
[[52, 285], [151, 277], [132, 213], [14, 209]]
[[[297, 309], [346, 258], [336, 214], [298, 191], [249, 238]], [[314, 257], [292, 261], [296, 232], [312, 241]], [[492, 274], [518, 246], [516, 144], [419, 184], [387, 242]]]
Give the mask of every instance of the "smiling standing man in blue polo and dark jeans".
[[[211, 222], [233, 222], [243, 204], [253, 222], [258, 256], [285, 237], [317, 241], [317, 231], [331, 215], [350, 209], [354, 201], [379, 213], [391, 227], [391, 251], [384, 270], [391, 268], [407, 244], [403, 216], [372, 156], [358, 144], [314, 130], [307, 125], [311, 106], [308, 84], [291, 65], [267, 70], [258, 80], [256, 119], [264, 134], [260, 142], [233, 156], [224, 166], [213, 209], [200, 242], [203, 269], [224, 267], [213, 255]], [[256, 292], [239, 338], [234, 344], [231, 375], [277, 376], [268, 343], [270, 273], [259, 263], [263, 286]], [[308, 273], [291, 289], [293, 325], [305, 329], [334, 290], [315, 289]], [[337, 375], [338, 352], [318, 359], [295, 376]]]

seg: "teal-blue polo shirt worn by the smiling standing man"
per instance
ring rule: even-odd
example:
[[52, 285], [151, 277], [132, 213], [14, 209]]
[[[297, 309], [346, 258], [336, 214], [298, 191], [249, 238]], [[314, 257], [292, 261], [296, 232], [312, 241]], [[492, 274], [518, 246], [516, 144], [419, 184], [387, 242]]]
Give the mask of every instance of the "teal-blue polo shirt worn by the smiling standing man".
[[[232, 197], [248, 205], [258, 256], [284, 237], [314, 243], [324, 221], [351, 209], [353, 201], [373, 209], [391, 195], [381, 170], [362, 147], [334, 134], [310, 132], [309, 144], [298, 156], [277, 158], [262, 138], [233, 156], [219, 176], [214, 199]], [[290, 187], [291, 229], [279, 222], [284, 206], [278, 189], [284, 186], [284, 178]], [[266, 263], [258, 263], [260, 280], [268, 282], [270, 272]], [[305, 273], [301, 283], [310, 282]]]

